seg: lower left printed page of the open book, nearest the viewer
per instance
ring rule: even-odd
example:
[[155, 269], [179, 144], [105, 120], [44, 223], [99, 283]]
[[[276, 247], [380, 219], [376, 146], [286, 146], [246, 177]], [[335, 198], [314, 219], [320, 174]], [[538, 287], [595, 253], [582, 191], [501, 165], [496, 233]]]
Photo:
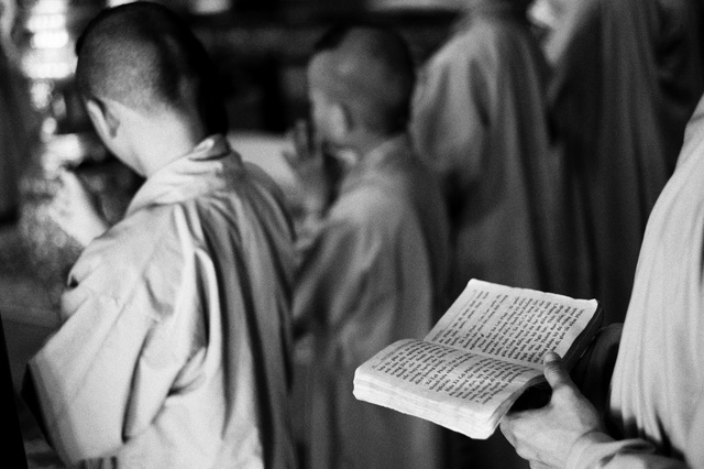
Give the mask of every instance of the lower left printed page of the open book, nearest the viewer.
[[395, 342], [360, 369], [365, 369], [366, 380], [391, 388], [417, 388], [414, 392], [424, 399], [458, 401], [486, 415], [526, 382], [542, 375], [529, 367], [418, 340]]

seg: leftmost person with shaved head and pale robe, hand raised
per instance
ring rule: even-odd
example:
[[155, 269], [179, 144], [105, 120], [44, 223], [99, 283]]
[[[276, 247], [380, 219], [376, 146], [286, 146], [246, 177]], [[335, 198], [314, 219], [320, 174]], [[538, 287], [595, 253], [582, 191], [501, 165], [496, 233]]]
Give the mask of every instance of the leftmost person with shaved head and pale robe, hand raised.
[[148, 2], [100, 13], [77, 53], [98, 135], [146, 181], [99, 234], [63, 175], [74, 203], [53, 216], [89, 244], [64, 324], [29, 364], [47, 439], [69, 466], [295, 468], [293, 229], [274, 183], [227, 142], [213, 64]]

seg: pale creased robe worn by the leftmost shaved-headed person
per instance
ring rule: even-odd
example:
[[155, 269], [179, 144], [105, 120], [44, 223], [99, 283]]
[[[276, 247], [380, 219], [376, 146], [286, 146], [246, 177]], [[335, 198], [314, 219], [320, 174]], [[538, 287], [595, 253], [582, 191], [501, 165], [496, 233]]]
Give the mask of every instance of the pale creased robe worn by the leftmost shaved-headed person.
[[31, 360], [69, 463], [295, 468], [293, 233], [271, 179], [223, 137], [152, 175], [74, 266]]

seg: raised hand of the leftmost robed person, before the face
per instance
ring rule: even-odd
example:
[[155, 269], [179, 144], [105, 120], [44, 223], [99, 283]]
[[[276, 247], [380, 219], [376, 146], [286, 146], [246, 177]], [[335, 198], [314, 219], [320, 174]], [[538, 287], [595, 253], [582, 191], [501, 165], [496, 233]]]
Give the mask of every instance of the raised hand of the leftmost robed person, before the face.
[[61, 229], [82, 246], [106, 232], [108, 222], [102, 217], [95, 197], [75, 173], [62, 168], [61, 183], [48, 215]]

